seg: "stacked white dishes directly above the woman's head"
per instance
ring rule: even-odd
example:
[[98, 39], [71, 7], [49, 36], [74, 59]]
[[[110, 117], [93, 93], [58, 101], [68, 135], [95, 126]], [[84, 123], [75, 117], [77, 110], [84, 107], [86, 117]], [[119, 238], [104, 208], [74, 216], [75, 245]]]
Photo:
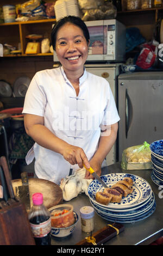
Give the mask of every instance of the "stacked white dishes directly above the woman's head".
[[54, 5], [56, 20], [60, 20], [68, 15], [79, 16], [77, 0], [58, 0]]

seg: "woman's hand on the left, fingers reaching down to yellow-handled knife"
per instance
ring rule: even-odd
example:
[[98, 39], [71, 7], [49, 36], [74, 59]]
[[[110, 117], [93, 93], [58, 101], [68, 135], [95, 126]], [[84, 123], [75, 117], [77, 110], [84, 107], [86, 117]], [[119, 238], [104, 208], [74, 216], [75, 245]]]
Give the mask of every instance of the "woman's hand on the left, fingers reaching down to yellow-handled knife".
[[90, 168], [89, 161], [82, 148], [68, 144], [62, 153], [64, 159], [71, 164], [78, 164], [80, 168], [83, 168], [83, 162], [87, 168]]

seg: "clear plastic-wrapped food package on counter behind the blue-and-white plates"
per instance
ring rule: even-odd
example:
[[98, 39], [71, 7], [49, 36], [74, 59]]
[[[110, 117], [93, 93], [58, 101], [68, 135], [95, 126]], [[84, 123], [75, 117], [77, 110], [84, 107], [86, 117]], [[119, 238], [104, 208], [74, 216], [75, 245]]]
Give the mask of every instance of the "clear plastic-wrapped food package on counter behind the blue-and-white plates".
[[121, 167], [125, 170], [152, 169], [149, 144], [144, 142], [125, 149], [122, 154]]

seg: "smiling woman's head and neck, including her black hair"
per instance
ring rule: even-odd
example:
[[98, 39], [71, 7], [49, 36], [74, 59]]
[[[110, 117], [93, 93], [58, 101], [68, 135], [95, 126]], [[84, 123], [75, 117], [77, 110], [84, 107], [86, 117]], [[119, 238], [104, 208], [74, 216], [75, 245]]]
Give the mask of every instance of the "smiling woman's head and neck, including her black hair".
[[77, 95], [79, 93], [79, 77], [84, 72], [89, 42], [89, 31], [79, 17], [64, 17], [53, 28], [53, 48], [67, 78], [76, 89]]

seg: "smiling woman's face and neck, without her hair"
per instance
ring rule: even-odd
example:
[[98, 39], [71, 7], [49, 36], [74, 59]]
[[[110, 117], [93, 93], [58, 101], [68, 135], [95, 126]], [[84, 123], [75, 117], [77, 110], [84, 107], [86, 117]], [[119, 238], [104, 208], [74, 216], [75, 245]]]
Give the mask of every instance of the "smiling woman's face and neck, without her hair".
[[55, 51], [67, 78], [72, 84], [77, 80], [79, 86], [79, 77], [83, 75], [88, 54], [82, 29], [70, 22], [63, 25], [57, 32]]

